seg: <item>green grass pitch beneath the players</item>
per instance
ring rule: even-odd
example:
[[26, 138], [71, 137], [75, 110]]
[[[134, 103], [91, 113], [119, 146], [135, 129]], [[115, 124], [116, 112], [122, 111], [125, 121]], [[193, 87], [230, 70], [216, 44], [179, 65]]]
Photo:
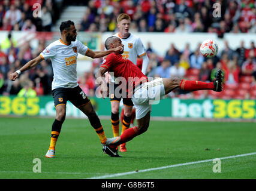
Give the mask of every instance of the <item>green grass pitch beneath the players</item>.
[[[0, 178], [256, 178], [256, 155], [162, 170], [140, 170], [256, 152], [256, 128], [245, 122], [151, 121], [149, 130], [127, 144], [122, 158], [110, 158], [88, 119], [66, 119], [56, 144], [55, 158], [45, 158], [54, 119], [0, 118]], [[112, 137], [110, 120], [101, 120]], [[207, 148], [207, 149], [206, 149]], [[33, 172], [41, 160], [41, 172]]]

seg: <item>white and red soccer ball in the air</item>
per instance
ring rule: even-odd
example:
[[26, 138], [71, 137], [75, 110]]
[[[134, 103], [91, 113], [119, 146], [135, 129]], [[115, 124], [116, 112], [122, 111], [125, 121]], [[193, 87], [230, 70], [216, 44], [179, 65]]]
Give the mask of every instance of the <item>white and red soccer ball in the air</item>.
[[215, 57], [218, 53], [218, 45], [215, 41], [211, 39], [207, 39], [206, 41], [203, 41], [203, 43], [200, 46], [200, 51], [203, 54], [204, 57], [212, 58]]

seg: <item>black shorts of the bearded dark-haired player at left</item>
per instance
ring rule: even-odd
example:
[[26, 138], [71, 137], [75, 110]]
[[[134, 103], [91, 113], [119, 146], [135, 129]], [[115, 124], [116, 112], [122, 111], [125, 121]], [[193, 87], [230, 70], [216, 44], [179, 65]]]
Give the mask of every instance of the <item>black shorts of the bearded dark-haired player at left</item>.
[[90, 99], [79, 85], [75, 88], [56, 88], [52, 91], [55, 107], [59, 104], [67, 104], [69, 100], [74, 106], [81, 107], [90, 102]]

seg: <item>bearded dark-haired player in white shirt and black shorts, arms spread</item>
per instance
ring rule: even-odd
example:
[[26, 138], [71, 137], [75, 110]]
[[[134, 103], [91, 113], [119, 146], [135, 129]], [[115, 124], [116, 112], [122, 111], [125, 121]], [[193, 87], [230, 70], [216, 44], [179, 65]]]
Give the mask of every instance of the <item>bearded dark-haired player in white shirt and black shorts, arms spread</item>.
[[86, 116], [95, 129], [101, 144], [106, 145], [115, 143], [118, 138], [107, 138], [100, 119], [95, 113], [94, 108], [89, 100], [89, 97], [82, 91], [77, 84], [77, 56], [78, 53], [91, 57], [99, 58], [107, 54], [115, 53], [123, 50], [122, 47], [117, 47], [107, 51], [92, 51], [76, 40], [77, 30], [73, 21], [64, 21], [59, 27], [61, 30], [61, 39], [52, 42], [38, 57], [26, 63], [23, 67], [14, 73], [11, 73], [10, 79], [15, 81], [20, 73], [37, 66], [44, 59], [50, 58], [53, 67], [53, 82], [52, 94], [56, 109], [56, 118], [52, 125], [52, 135], [50, 139], [50, 147], [46, 153], [47, 158], [53, 158], [55, 155], [56, 141], [61, 133], [61, 127], [65, 121], [66, 104], [70, 100], [77, 108], [79, 108]]

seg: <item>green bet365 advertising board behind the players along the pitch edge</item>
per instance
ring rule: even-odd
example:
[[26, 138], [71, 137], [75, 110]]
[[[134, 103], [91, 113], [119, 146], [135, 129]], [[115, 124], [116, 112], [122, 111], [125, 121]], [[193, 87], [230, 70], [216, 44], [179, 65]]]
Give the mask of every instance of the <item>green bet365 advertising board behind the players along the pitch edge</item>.
[[[100, 116], [110, 116], [109, 98], [90, 98]], [[165, 98], [158, 104], [152, 104], [151, 116], [174, 118], [210, 118], [210, 119], [255, 119], [255, 100], [183, 100]], [[55, 116], [55, 106], [51, 96], [13, 97], [0, 96], [0, 115]], [[69, 101], [67, 116], [84, 118], [85, 115]]]

